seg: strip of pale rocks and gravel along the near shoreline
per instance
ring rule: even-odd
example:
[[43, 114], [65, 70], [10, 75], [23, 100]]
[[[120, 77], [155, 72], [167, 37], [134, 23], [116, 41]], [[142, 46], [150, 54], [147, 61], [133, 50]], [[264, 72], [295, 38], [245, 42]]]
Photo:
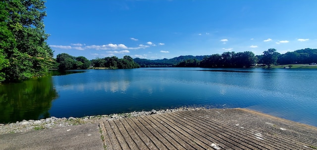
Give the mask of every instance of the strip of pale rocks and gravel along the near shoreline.
[[86, 123], [99, 123], [102, 120], [115, 120], [125, 117], [136, 117], [144, 116], [151, 114], [161, 114], [167, 112], [175, 111], [185, 111], [185, 110], [199, 110], [205, 109], [204, 107], [180, 107], [175, 109], [165, 109], [165, 110], [152, 110], [152, 111], [134, 111], [129, 113], [119, 113], [119, 114], [110, 114], [110, 115], [95, 115], [95, 116], [85, 116], [81, 118], [56, 118], [50, 117], [40, 120], [23, 120], [17, 121], [16, 123], [0, 124], [0, 134], [7, 133], [18, 133], [26, 132], [32, 130], [41, 130], [47, 128], [56, 128], [56, 127], [66, 127], [72, 125], [86, 124]]

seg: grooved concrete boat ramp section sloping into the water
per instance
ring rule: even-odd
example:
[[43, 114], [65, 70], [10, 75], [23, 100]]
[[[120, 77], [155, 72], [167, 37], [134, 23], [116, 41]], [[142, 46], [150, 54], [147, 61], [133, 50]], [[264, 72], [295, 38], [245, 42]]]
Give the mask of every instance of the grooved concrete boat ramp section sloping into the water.
[[317, 128], [234, 109], [103, 121], [106, 150], [316, 150]]

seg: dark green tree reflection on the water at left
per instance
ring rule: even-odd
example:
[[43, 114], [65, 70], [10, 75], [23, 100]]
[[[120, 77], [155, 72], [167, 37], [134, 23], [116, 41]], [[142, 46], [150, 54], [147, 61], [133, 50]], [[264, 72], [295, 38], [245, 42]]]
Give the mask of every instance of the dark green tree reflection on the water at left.
[[0, 123], [50, 117], [56, 98], [51, 77], [0, 85]]

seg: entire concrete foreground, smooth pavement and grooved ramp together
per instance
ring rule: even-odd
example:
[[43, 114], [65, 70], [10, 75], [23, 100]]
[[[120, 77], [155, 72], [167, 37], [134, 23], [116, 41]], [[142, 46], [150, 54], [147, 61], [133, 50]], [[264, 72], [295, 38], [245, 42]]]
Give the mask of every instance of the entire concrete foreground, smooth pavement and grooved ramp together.
[[317, 127], [248, 109], [104, 118], [0, 135], [0, 150], [317, 150]]

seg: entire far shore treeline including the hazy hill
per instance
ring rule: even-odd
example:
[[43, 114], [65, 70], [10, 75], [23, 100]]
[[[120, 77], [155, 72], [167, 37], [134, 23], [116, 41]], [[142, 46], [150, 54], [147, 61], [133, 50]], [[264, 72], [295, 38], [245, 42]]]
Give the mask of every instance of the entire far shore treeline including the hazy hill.
[[88, 60], [84, 56], [74, 57], [67, 53], [57, 55], [55, 69], [131, 69], [139, 67], [205, 67], [205, 68], [250, 68], [271, 64], [308, 64], [317, 62], [317, 49], [295, 50], [280, 54], [275, 49], [269, 49], [262, 55], [255, 55], [252, 51], [228, 51], [222, 54], [205, 56], [179, 56], [171, 59], [140, 59], [128, 55], [123, 58], [116, 56]]

